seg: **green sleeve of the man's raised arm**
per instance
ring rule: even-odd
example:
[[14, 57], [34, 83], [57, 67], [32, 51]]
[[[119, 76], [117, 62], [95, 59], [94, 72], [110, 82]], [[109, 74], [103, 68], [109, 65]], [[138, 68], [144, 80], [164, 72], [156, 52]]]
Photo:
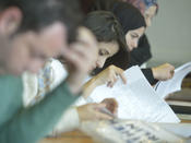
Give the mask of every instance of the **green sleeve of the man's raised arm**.
[[35, 143], [46, 136], [77, 98], [61, 83], [37, 105], [21, 109], [0, 129], [1, 143]]

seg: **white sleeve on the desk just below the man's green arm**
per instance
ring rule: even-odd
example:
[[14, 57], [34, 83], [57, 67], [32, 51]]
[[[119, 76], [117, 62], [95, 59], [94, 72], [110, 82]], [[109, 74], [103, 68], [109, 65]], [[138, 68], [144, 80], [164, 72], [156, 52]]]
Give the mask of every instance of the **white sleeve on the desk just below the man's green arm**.
[[69, 108], [53, 129], [52, 135], [73, 131], [79, 128], [80, 119], [76, 107]]

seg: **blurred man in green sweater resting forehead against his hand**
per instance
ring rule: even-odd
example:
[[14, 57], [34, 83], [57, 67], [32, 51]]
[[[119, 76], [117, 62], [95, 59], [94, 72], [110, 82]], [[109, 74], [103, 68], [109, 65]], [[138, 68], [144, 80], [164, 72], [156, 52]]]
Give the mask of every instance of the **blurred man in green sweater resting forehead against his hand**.
[[[69, 37], [72, 40], [82, 21], [73, 11], [81, 13], [75, 0], [0, 1], [1, 143], [37, 142], [52, 130], [62, 112], [77, 98], [81, 82], [95, 62], [96, 44], [89, 32], [83, 32], [81, 45], [68, 48]], [[60, 53], [72, 71], [68, 80], [44, 102], [23, 108], [22, 80], [15, 75], [26, 70], [37, 72], [47, 58]]]

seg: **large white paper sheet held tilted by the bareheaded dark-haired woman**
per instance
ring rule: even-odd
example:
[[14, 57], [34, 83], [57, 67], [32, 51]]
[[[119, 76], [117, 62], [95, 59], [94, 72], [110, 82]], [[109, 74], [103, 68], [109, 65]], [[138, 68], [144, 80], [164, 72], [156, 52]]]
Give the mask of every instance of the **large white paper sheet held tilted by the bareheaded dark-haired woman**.
[[139, 67], [124, 72], [128, 83], [118, 80], [112, 88], [106, 85], [94, 90], [89, 98], [99, 103], [104, 98], [116, 98], [121, 119], [138, 119], [147, 122], [179, 122], [179, 119], [144, 78]]

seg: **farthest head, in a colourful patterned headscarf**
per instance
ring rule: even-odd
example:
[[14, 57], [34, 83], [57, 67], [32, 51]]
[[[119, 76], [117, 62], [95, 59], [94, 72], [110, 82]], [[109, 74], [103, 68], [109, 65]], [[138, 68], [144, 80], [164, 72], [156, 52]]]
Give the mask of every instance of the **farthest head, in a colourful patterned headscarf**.
[[158, 11], [157, 0], [123, 0], [138, 8], [143, 14], [146, 26], [152, 25], [152, 20]]

